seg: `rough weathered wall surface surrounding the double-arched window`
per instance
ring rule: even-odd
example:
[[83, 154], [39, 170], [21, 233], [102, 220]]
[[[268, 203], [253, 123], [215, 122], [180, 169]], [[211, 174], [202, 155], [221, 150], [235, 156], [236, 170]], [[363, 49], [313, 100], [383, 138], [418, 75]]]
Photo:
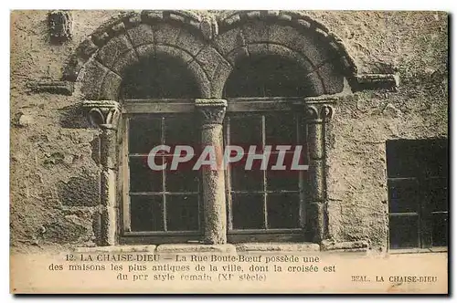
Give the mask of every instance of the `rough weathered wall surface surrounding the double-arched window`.
[[[338, 100], [327, 132], [327, 235], [387, 246], [385, 141], [447, 137], [448, 20], [437, 12], [303, 12], [342, 40], [359, 73], [398, 73], [398, 91]], [[11, 16], [11, 244], [94, 246], [100, 233], [100, 142], [65, 78], [80, 43], [118, 11], [73, 11], [71, 38], [51, 43], [48, 11]], [[221, 16], [223, 12], [200, 13]], [[212, 90], [211, 90], [212, 89]], [[220, 88], [211, 88], [218, 91]], [[66, 91], [63, 88], [63, 91]]]

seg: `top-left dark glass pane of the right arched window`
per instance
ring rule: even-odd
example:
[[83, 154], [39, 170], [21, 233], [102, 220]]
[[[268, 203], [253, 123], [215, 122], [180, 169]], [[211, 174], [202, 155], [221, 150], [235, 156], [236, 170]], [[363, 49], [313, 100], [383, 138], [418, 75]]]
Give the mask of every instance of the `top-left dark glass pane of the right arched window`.
[[241, 145], [248, 152], [250, 145], [261, 150], [261, 116], [231, 117], [230, 144]]

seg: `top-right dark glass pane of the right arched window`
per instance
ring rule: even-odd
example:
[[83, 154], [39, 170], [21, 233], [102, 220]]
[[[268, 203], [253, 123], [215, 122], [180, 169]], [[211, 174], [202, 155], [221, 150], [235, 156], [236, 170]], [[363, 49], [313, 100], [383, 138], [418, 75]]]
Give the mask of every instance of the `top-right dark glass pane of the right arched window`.
[[297, 140], [297, 125], [292, 113], [265, 116], [266, 144], [292, 145]]

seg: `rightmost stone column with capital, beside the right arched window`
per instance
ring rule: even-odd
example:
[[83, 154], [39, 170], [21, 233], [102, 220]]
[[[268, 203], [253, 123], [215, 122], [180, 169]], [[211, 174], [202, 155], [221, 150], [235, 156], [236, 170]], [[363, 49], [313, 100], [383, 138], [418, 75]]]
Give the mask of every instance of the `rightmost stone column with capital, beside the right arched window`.
[[325, 101], [306, 103], [307, 143], [309, 154], [307, 224], [314, 243], [324, 240], [326, 214], [325, 129], [333, 108]]

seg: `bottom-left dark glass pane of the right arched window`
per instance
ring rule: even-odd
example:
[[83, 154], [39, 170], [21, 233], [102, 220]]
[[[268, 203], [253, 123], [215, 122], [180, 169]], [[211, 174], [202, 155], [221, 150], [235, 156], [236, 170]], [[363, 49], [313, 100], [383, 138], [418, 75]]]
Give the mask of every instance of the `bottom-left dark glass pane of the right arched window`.
[[263, 194], [233, 193], [232, 214], [234, 229], [263, 229]]

